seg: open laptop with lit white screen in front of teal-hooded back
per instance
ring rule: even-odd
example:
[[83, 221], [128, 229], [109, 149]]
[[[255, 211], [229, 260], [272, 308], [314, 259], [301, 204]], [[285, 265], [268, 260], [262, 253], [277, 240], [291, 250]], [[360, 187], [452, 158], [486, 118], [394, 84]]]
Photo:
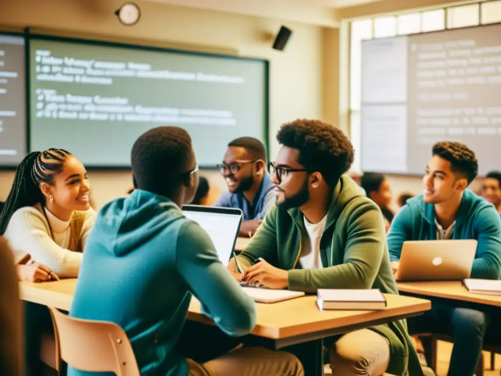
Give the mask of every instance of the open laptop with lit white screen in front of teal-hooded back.
[[233, 256], [242, 212], [239, 209], [196, 205], [184, 205], [182, 210], [186, 218], [198, 223], [205, 230], [214, 244], [219, 260], [227, 266]]

